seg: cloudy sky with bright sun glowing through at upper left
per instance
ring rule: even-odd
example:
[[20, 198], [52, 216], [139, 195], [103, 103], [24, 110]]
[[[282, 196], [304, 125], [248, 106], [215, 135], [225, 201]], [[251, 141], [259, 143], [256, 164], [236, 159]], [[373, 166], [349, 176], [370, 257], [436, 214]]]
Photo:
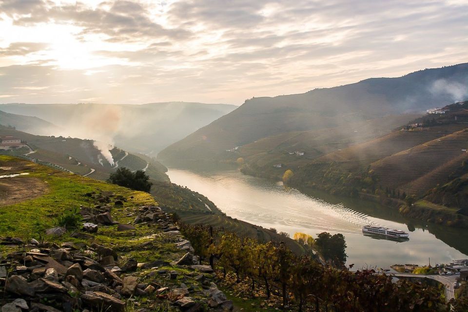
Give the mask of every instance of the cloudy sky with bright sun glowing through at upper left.
[[0, 103], [303, 93], [468, 61], [468, 0], [0, 0]]

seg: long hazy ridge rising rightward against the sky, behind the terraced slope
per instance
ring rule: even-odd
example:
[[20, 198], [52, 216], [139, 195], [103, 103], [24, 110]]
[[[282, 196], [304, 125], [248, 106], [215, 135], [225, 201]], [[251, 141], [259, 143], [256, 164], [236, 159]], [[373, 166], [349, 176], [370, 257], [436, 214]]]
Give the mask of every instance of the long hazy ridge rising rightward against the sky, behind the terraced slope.
[[450, 90], [434, 88], [440, 81], [468, 83], [468, 63], [426, 69], [399, 78], [371, 78], [304, 94], [252, 98], [243, 105], [161, 151], [167, 164], [200, 159], [226, 159], [226, 150], [295, 131], [317, 131], [365, 122], [409, 111], [447, 105]]

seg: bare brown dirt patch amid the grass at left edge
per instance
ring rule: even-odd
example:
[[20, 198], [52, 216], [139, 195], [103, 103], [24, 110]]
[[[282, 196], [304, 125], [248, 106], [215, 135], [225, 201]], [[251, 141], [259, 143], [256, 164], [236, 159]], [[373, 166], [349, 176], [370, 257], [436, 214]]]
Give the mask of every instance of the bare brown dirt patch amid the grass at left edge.
[[39, 197], [47, 191], [47, 184], [36, 177], [1, 178], [0, 207]]

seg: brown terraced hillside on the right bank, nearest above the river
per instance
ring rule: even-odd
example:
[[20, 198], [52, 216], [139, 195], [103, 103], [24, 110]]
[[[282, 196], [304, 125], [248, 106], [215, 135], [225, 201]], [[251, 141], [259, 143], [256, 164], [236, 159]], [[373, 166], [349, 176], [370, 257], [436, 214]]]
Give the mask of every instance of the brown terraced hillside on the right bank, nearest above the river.
[[468, 227], [467, 109], [468, 101], [447, 105], [440, 109], [444, 113], [418, 117], [388, 135], [281, 169], [293, 170], [290, 185], [390, 206], [404, 205], [410, 195], [416, 203], [401, 209], [402, 214]]

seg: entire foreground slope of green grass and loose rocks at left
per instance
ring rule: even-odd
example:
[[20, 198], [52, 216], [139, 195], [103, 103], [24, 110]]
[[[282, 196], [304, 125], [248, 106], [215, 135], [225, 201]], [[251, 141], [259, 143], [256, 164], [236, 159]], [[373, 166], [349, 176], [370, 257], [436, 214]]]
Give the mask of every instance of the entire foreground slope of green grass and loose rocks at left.
[[[0, 156], [0, 168], [0, 175], [23, 174], [0, 181], [6, 190], [0, 192], [1, 268], [8, 270], [2, 311], [21, 311], [17, 302], [49, 312], [175, 312], [183, 305], [232, 311], [213, 270], [196, 266], [190, 241], [148, 193], [9, 156]], [[47, 190], [2, 203], [13, 185], [29, 186], [31, 179]], [[219, 303], [208, 308], [214, 294]]]

